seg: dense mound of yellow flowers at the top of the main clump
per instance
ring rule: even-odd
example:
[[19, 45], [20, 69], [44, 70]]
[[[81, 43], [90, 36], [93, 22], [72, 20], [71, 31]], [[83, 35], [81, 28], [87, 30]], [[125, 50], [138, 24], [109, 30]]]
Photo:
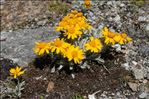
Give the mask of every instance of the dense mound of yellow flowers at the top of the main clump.
[[90, 28], [83, 13], [73, 10], [59, 22], [56, 31], [65, 31], [64, 35], [67, 39], [74, 39], [82, 34], [81, 30]]

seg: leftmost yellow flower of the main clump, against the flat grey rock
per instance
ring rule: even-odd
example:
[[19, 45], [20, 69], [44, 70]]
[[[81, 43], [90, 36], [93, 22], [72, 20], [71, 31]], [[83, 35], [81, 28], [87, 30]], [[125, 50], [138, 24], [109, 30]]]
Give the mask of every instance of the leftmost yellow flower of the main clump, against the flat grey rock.
[[50, 42], [35, 42], [36, 46], [34, 47], [34, 52], [38, 55], [43, 55], [44, 53], [49, 54]]

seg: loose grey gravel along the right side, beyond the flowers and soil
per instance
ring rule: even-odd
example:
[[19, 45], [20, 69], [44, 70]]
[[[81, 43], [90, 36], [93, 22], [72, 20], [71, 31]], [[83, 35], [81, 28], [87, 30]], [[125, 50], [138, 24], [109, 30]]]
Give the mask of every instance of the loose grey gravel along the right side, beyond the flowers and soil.
[[[81, 6], [81, 4], [80, 4]], [[80, 10], [79, 7], [76, 7]], [[146, 98], [149, 92], [148, 83], [143, 81], [149, 78], [149, 7], [147, 4], [137, 6], [129, 1], [95, 1], [91, 8], [85, 13], [89, 22], [94, 28], [103, 28], [108, 26], [110, 29], [118, 32], [126, 32], [133, 42], [127, 45], [126, 63], [122, 66], [132, 72], [134, 81], [128, 86], [134, 91], [129, 92], [132, 97], [127, 97], [123, 92], [119, 97], [115, 94], [101, 94], [99, 99], [137, 99]], [[142, 94], [139, 94], [142, 93]], [[123, 98], [120, 98], [120, 97]], [[97, 98], [97, 99], [98, 99]]]

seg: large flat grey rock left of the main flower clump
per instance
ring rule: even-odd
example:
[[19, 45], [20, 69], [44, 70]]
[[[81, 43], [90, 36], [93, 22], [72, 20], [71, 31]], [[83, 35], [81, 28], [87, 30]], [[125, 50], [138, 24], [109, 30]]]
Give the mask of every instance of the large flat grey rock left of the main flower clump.
[[27, 66], [36, 56], [32, 50], [34, 42], [49, 41], [57, 35], [53, 28], [48, 27], [2, 32], [1, 37], [6, 38], [6, 41], [1, 43], [1, 56]]

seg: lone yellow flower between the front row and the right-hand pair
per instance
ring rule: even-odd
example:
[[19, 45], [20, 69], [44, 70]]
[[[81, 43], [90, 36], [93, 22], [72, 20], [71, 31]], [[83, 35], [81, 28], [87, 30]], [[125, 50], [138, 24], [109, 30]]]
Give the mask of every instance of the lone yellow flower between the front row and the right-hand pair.
[[86, 50], [97, 53], [102, 49], [102, 43], [98, 38], [90, 37], [90, 41], [85, 44]]

